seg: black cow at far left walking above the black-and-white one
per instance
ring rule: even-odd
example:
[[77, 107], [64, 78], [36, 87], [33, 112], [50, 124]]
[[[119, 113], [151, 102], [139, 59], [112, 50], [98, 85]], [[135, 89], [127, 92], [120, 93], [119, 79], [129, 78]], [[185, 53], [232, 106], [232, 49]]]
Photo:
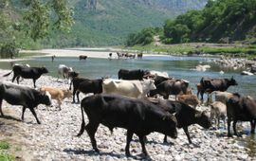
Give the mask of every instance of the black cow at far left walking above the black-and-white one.
[[4, 75], [4, 77], [7, 77], [10, 75], [10, 73], [13, 71], [13, 78], [12, 82], [16, 79], [17, 83], [19, 83], [20, 77], [24, 79], [32, 79], [34, 83], [34, 88], [36, 87], [35, 81], [41, 77], [42, 74], [48, 73], [48, 70], [46, 67], [27, 67], [27, 66], [21, 66], [21, 65], [14, 65], [12, 67], [12, 70]]

